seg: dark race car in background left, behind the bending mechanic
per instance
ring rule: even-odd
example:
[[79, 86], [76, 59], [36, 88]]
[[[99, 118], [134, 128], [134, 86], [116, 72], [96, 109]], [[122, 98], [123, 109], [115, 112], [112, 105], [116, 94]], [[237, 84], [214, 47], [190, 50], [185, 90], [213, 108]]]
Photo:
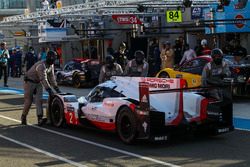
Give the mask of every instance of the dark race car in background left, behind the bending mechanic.
[[63, 70], [56, 71], [58, 84], [69, 84], [76, 88], [98, 84], [100, 62], [93, 59], [73, 59], [65, 64]]

